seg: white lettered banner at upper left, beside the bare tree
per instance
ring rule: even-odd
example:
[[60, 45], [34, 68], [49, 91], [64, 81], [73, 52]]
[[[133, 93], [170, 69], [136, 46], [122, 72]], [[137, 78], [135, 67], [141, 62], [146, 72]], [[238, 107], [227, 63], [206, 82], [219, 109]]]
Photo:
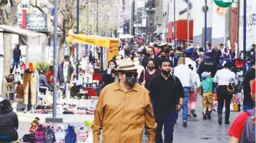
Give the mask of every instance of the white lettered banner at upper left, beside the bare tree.
[[27, 29], [31, 31], [48, 31], [46, 13], [30, 13], [27, 14]]

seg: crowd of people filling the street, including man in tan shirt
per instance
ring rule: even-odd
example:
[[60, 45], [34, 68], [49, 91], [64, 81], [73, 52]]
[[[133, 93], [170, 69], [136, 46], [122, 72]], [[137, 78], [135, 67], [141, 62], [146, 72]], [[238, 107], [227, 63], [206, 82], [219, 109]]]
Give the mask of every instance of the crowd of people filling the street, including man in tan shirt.
[[[243, 83], [243, 108], [248, 112], [254, 109], [254, 99], [251, 97], [255, 93], [252, 85], [255, 80], [254, 50], [255, 45], [252, 45], [247, 59], [251, 69], [246, 73]], [[230, 103], [238, 84], [235, 74], [238, 69], [234, 69], [235, 54], [229, 47], [219, 44], [212, 48], [208, 43], [205, 51], [199, 44], [185, 50], [182, 47], [159, 47], [157, 44], [123, 46], [120, 55], [111, 62], [108, 68], [111, 72], [103, 75], [110, 76], [111, 82], [104, 82], [105, 88], [100, 93], [92, 126], [94, 142], [100, 141], [100, 129], [103, 129], [103, 141], [139, 143], [143, 125], [146, 126], [149, 142], [172, 142], [178, 112], [182, 110], [184, 127], [189, 125], [188, 118], [197, 117], [198, 95], [202, 95], [203, 119], [212, 119], [214, 90], [217, 90], [218, 95], [218, 124], [222, 125], [224, 107], [224, 123], [230, 124]], [[246, 112], [241, 118], [248, 116]], [[234, 129], [237, 128], [235, 125], [241, 125], [241, 119], [237, 120], [239, 123], [235, 121], [228, 132], [232, 143], [241, 140], [241, 134], [238, 135]], [[239, 128], [243, 128], [243, 125]]]

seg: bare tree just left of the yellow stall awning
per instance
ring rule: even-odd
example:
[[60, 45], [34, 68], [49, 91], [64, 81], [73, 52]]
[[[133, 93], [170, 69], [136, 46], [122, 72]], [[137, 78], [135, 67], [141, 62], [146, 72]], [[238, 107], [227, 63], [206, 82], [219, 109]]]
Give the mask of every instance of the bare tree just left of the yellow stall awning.
[[[49, 1], [53, 4], [53, 1]], [[76, 21], [76, 0], [57, 0], [58, 3], [58, 16], [62, 18], [62, 23], [57, 24], [57, 27], [61, 30], [61, 40], [59, 43], [58, 48], [58, 55], [57, 55], [57, 63], [61, 63], [62, 60], [62, 50], [63, 45], [65, 43], [68, 31], [71, 30], [74, 26], [74, 21]], [[38, 1], [35, 0], [34, 4], [30, 2], [30, 5], [34, 8], [37, 8], [42, 13], [46, 13], [43, 8], [38, 5]], [[80, 11], [83, 10], [85, 6], [80, 7]], [[54, 11], [55, 12], [55, 11]], [[53, 22], [53, 21], [52, 21]]]

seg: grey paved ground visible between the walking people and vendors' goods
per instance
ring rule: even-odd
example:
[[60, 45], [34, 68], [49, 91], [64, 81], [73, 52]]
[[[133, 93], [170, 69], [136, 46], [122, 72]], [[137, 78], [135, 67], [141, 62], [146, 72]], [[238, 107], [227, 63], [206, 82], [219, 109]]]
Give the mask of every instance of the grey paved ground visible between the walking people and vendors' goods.
[[[201, 101], [201, 96], [199, 100]], [[202, 102], [198, 102], [197, 118], [189, 119], [188, 127], [182, 126], [182, 118], [179, 112], [179, 120], [175, 126], [174, 143], [227, 143], [227, 131], [230, 125], [218, 125], [217, 112], [212, 113], [212, 120], [202, 119]], [[231, 112], [230, 122], [233, 122], [239, 112]], [[44, 122], [45, 117], [51, 115], [34, 115], [18, 113], [20, 127], [18, 129], [19, 137], [28, 133], [31, 121], [34, 117], [40, 117]], [[59, 115], [64, 119], [64, 125], [84, 125], [84, 120], [93, 120], [94, 115]], [[143, 143], [147, 142], [147, 136], [143, 136]]]

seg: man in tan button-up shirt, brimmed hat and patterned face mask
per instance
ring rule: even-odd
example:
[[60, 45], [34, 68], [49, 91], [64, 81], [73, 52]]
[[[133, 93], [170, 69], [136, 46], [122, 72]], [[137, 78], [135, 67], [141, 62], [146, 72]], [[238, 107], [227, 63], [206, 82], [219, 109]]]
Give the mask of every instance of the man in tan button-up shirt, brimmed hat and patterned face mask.
[[100, 92], [92, 130], [94, 143], [141, 143], [146, 125], [148, 142], [155, 142], [156, 122], [149, 91], [136, 83], [136, 66], [133, 60], [120, 60], [119, 81], [110, 83]]

